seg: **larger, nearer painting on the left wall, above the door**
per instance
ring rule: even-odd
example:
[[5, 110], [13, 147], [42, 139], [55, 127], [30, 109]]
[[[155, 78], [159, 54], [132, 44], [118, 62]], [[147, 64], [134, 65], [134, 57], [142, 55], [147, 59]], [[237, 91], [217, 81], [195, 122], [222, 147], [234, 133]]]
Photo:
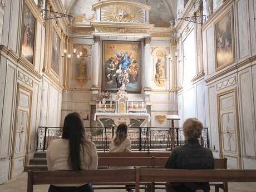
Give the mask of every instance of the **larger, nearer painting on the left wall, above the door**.
[[35, 30], [36, 30], [36, 18], [28, 8], [27, 4], [24, 4], [23, 21], [22, 21], [22, 45], [21, 56], [26, 58], [33, 64], [34, 49], [35, 49]]

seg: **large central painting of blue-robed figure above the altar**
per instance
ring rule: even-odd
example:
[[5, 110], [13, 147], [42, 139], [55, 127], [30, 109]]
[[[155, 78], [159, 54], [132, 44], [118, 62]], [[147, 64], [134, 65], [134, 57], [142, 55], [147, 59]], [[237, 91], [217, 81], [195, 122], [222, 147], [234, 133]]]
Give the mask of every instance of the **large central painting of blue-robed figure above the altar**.
[[140, 42], [104, 41], [104, 90], [140, 91]]

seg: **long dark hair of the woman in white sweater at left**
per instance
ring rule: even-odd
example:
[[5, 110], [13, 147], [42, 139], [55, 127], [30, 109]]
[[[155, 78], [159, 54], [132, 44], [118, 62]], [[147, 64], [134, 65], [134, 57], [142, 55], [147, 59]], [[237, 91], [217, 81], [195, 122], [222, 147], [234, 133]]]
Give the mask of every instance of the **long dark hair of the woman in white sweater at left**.
[[[72, 170], [81, 170], [80, 152], [86, 142], [83, 121], [77, 112], [72, 112], [65, 117], [62, 139], [69, 141], [68, 164]], [[84, 150], [83, 150], [84, 151]]]

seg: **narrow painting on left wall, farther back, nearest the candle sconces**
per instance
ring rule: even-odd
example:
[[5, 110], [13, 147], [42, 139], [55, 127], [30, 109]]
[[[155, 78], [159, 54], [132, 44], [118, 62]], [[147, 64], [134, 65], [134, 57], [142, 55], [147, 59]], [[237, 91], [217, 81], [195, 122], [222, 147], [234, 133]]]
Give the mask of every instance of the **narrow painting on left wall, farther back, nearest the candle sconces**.
[[52, 30], [52, 65], [51, 68], [53, 71], [59, 75], [60, 73], [60, 42], [61, 39], [58, 36], [57, 32], [53, 28]]

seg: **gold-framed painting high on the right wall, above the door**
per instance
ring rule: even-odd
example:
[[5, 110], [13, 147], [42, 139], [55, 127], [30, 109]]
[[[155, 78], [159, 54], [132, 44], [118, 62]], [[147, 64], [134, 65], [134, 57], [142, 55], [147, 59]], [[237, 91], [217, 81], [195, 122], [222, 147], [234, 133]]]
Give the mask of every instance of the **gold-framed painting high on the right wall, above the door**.
[[234, 58], [233, 9], [214, 24], [216, 71], [232, 64]]

